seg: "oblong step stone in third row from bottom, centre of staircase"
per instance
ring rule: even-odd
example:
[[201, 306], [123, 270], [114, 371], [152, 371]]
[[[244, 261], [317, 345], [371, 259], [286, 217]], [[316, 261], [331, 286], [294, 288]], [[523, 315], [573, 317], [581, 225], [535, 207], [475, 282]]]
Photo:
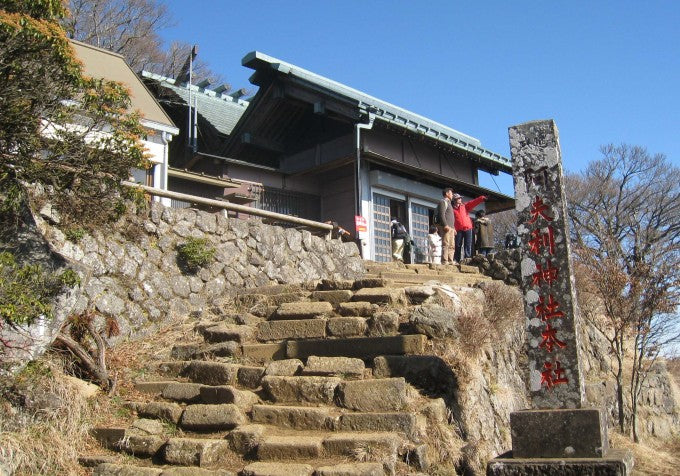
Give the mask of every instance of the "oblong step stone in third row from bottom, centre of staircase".
[[337, 420], [327, 407], [254, 405], [252, 420], [296, 430], [332, 430]]

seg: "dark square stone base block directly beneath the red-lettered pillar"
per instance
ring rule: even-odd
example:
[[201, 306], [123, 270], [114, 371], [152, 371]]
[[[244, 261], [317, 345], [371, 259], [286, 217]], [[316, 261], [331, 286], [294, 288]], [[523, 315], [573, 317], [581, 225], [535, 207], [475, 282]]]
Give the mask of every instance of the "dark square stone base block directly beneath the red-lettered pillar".
[[608, 449], [607, 424], [597, 409], [510, 413], [515, 458], [599, 458]]

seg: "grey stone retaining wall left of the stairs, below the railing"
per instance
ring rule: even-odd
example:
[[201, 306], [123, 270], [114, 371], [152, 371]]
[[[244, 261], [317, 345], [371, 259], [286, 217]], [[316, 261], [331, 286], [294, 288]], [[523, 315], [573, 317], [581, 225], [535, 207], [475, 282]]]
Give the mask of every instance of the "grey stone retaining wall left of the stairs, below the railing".
[[[68, 293], [68, 300], [61, 298], [52, 321], [19, 332], [4, 329], [2, 336], [18, 344], [19, 354], [4, 359], [35, 357], [68, 315], [88, 309], [98, 311], [101, 320], [116, 318], [121, 332], [111, 337], [115, 341], [146, 333], [173, 316], [217, 306], [239, 289], [355, 279], [364, 273], [354, 243], [267, 225], [257, 218], [229, 218], [224, 212], [153, 203], [148, 215], [128, 216], [77, 243], [50, 223], [55, 217], [34, 218], [39, 233], [33, 233], [32, 240], [46, 240], [52, 261], [68, 263], [79, 272], [82, 284]], [[119, 231], [125, 228], [128, 237]], [[130, 230], [136, 231], [134, 238], [129, 238]], [[177, 261], [177, 247], [189, 237], [205, 238], [216, 250], [214, 261], [195, 274], [183, 272]]]

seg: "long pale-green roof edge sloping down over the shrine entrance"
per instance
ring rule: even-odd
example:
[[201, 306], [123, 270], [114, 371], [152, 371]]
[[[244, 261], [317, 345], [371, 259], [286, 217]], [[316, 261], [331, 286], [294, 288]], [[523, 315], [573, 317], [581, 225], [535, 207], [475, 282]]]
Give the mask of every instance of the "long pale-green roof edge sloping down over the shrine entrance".
[[259, 51], [248, 53], [241, 60], [241, 64], [255, 70], [255, 73], [250, 78], [250, 82], [255, 85], [262, 85], [265, 82], [265, 78], [273, 73], [295, 77], [317, 88], [327, 90], [332, 95], [349, 99], [356, 103], [358, 111], [366, 116], [371, 114], [378, 120], [464, 150], [479, 157], [482, 162], [487, 162], [491, 168], [507, 173], [512, 172], [512, 162], [510, 159], [485, 149], [478, 139], [345, 86], [337, 81], [325, 78]]

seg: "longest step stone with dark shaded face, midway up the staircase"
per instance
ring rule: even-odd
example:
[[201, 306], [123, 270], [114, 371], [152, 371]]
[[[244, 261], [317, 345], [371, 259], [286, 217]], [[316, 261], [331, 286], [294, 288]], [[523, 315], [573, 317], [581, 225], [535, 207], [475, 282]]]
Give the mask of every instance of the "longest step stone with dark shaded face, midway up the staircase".
[[309, 339], [287, 342], [289, 358], [306, 359], [311, 355], [324, 357], [359, 357], [378, 355], [418, 354], [425, 349], [427, 337], [421, 334], [386, 337], [355, 337], [345, 339]]

